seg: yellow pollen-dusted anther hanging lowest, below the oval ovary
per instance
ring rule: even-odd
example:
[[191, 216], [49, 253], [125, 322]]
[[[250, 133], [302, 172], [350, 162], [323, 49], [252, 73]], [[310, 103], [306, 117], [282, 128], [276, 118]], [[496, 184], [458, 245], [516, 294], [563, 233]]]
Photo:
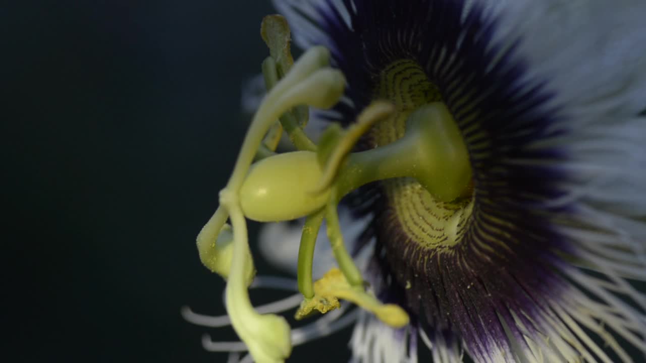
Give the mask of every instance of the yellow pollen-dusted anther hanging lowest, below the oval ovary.
[[408, 314], [395, 304], [382, 304], [362, 287], [353, 287], [348, 284], [345, 276], [339, 269], [333, 268], [314, 284], [314, 297], [306, 299], [300, 304], [295, 318], [300, 320], [312, 311], [327, 313], [337, 309], [339, 299], [351, 301], [358, 306], [374, 313], [379, 320], [391, 327], [403, 327], [409, 322]]

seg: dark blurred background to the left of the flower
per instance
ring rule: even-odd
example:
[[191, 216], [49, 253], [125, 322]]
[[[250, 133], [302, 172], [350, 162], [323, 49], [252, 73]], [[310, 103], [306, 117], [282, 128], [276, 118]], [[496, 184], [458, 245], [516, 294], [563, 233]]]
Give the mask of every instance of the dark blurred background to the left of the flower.
[[[2, 8], [7, 361], [224, 362], [180, 307], [224, 313], [194, 238], [249, 122], [269, 1]], [[346, 361], [348, 338], [290, 361]]]

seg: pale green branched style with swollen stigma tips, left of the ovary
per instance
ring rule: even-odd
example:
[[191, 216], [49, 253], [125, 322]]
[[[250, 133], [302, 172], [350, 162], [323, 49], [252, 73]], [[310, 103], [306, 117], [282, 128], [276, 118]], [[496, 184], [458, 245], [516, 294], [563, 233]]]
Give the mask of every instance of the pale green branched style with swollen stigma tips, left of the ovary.
[[[245, 276], [253, 269], [247, 258], [249, 244], [247, 225], [239, 200], [239, 193], [251, 161], [275, 119], [292, 107], [306, 103], [329, 107], [340, 98], [345, 80], [339, 71], [320, 69], [329, 62], [325, 48], [312, 48], [294, 65], [260, 105], [245, 136], [236, 165], [225, 189], [220, 191], [220, 208], [198, 236], [198, 249], [209, 252], [213, 238], [227, 219], [233, 225], [233, 252], [227, 274], [226, 306], [231, 323], [238, 336], [249, 346], [259, 363], [283, 360], [291, 353], [289, 325], [276, 315], [258, 315], [251, 306]], [[215, 247], [215, 246], [212, 246]]]

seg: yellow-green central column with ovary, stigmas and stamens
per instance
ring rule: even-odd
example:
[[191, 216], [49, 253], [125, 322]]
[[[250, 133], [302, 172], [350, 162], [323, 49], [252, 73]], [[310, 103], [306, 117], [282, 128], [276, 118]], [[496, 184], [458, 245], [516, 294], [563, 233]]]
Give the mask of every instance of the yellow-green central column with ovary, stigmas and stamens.
[[[280, 222], [306, 218], [297, 276], [304, 300], [297, 319], [313, 311], [327, 313], [340, 307], [339, 299], [344, 299], [388, 326], [404, 327], [410, 320], [406, 311], [372, 295], [348, 253], [337, 211], [340, 200], [362, 185], [393, 178], [417, 180], [437, 203], [457, 201], [463, 205], [461, 201], [472, 194], [468, 152], [441, 100], [415, 99], [415, 91], [392, 97], [377, 90], [378, 99], [385, 100], [365, 107], [348, 129], [330, 125], [314, 143], [303, 131], [307, 123], [303, 106], [333, 107], [344, 93], [346, 79], [329, 67], [330, 54], [324, 47], [310, 48], [292, 65], [289, 28], [282, 17], [266, 17], [262, 36], [271, 53], [262, 65], [268, 92], [247, 130], [229, 182], [220, 191], [220, 207], [197, 238], [203, 264], [227, 280], [225, 302], [231, 325], [259, 363], [283, 362], [289, 357], [291, 335], [284, 318], [260, 315], [251, 304], [247, 288], [255, 268], [246, 219]], [[415, 102], [402, 101], [406, 95]], [[414, 107], [402, 108], [402, 104]], [[353, 152], [362, 138], [378, 135], [379, 125], [393, 123], [402, 126], [401, 136], [373, 149]], [[276, 134], [282, 130], [297, 151], [276, 154]], [[231, 226], [225, 224], [227, 220]], [[339, 269], [331, 269], [314, 283], [314, 247], [324, 220]], [[456, 230], [458, 223], [448, 218], [447, 231]]]

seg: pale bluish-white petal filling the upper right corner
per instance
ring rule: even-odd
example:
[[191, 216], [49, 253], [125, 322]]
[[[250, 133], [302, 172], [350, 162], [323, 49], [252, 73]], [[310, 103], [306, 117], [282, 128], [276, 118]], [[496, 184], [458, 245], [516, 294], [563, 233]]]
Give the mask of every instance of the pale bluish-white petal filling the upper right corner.
[[643, 0], [509, 1], [497, 35], [521, 34], [531, 76], [547, 81], [568, 113], [584, 125], [612, 123], [646, 108], [644, 14]]

